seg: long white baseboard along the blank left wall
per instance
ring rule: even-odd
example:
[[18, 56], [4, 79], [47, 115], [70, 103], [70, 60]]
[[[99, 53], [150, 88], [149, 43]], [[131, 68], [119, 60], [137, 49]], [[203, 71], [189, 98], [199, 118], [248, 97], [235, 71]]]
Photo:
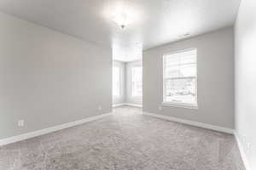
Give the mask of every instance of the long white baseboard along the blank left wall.
[[37, 137], [37, 136], [40, 136], [40, 135], [43, 135], [43, 134], [46, 134], [46, 133], [52, 133], [52, 132], [55, 132], [55, 131], [58, 131], [58, 130], [61, 130], [61, 129], [64, 129], [64, 128], [74, 127], [74, 126], [83, 124], [85, 122], [96, 121], [97, 119], [101, 119], [101, 118], [103, 118], [105, 116], [109, 116], [111, 114], [112, 113], [105, 113], [105, 114], [98, 115], [98, 116], [91, 116], [91, 117], [84, 118], [84, 119], [79, 120], [79, 121], [67, 122], [67, 123], [64, 123], [64, 124], [61, 124], [61, 125], [57, 125], [55, 127], [48, 127], [48, 128], [44, 128], [44, 129], [41, 129], [41, 130], [33, 131], [31, 133], [23, 133], [23, 134], [13, 136], [13, 137], [9, 137], [9, 138], [6, 138], [6, 139], [0, 139], [0, 146], [5, 145], [5, 144], [15, 143], [15, 142], [25, 140], [25, 139], [31, 139], [31, 138], [34, 138], [34, 137]]

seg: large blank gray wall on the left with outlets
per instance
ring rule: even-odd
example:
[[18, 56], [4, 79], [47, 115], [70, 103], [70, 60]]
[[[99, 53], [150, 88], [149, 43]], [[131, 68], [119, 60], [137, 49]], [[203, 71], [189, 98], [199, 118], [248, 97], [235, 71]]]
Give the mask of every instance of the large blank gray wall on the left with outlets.
[[0, 13], [0, 139], [110, 112], [111, 55]]

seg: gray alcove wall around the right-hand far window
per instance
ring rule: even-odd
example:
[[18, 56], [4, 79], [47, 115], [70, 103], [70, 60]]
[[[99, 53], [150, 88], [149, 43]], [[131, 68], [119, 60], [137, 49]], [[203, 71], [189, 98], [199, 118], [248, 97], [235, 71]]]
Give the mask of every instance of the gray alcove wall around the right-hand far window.
[[131, 95], [131, 68], [135, 66], [142, 66], [142, 61], [131, 61], [126, 63], [126, 96], [125, 102], [127, 104], [143, 105], [142, 97], [134, 97]]

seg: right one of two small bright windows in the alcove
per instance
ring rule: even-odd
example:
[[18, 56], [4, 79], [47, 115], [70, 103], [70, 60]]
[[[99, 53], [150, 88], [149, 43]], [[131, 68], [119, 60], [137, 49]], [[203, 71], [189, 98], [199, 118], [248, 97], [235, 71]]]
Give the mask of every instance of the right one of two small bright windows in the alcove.
[[131, 68], [131, 96], [143, 96], [143, 68], [141, 66]]

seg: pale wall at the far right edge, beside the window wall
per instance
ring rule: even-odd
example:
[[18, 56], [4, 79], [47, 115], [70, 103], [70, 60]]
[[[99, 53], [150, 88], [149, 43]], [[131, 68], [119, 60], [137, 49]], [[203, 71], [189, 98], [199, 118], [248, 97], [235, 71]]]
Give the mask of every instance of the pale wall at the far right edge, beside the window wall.
[[[242, 0], [236, 20], [236, 132], [256, 169], [256, 2]], [[248, 148], [247, 145], [250, 147]]]

